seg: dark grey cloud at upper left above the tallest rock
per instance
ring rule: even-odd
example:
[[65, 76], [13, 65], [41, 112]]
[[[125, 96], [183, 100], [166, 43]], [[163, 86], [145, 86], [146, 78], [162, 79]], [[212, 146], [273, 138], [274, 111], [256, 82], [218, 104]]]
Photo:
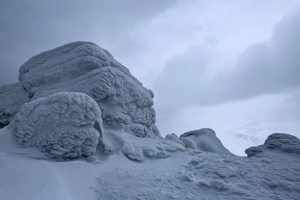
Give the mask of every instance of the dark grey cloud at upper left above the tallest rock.
[[91, 40], [110, 50], [135, 23], [175, 2], [1, 0], [0, 84], [16, 81], [18, 67], [32, 55], [64, 43]]

